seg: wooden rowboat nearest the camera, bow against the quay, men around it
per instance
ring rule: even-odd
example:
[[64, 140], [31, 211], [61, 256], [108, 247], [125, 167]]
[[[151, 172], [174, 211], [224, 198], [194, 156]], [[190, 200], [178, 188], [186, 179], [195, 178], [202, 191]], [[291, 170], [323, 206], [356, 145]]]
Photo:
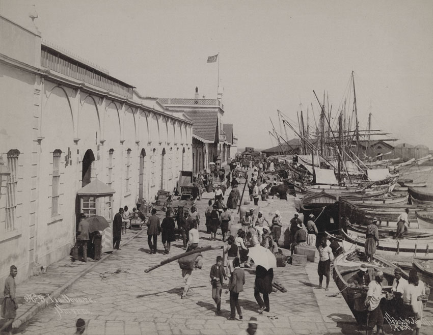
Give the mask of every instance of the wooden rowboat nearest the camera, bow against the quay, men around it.
[[[367, 265], [367, 273], [370, 278], [370, 281], [374, 279], [374, 271], [381, 270], [384, 272], [384, 282], [382, 283], [382, 292], [390, 292], [391, 285], [394, 280], [394, 269], [396, 266], [387, 261], [386, 259], [374, 255], [373, 263], [365, 262], [365, 255], [361, 250], [356, 249], [354, 251], [346, 252], [337, 256], [334, 259], [334, 271], [333, 277], [335, 284], [340, 290], [344, 300], [349, 306], [350, 311], [355, 316], [357, 322], [359, 324], [365, 324], [367, 319], [367, 311], [357, 311], [356, 310], [356, 296], [361, 296], [361, 300], [366, 296], [367, 289], [366, 288], [352, 288], [347, 284], [347, 281], [351, 276], [353, 276], [358, 270], [361, 264]], [[403, 277], [408, 278], [408, 273], [403, 271]], [[384, 294], [385, 297], [385, 294]], [[393, 305], [394, 300], [383, 300], [382, 308], [384, 311], [387, 311], [391, 314], [391, 311], [394, 310]]]

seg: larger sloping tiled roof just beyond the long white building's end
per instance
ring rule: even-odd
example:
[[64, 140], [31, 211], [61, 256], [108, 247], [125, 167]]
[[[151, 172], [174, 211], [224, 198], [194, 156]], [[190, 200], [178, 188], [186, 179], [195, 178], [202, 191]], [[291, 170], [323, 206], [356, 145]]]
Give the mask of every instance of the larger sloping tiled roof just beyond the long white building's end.
[[188, 110], [184, 114], [193, 122], [193, 134], [215, 141], [217, 133], [218, 111], [217, 110]]

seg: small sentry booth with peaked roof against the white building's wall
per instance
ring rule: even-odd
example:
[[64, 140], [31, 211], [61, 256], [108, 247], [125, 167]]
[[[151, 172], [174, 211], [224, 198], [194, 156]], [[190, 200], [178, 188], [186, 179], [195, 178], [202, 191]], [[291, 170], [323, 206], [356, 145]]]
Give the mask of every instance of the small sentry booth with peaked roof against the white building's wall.
[[113, 251], [113, 194], [116, 191], [109, 185], [95, 178], [86, 186], [77, 191], [79, 212], [87, 217], [93, 215], [103, 216], [110, 227], [102, 232], [102, 252]]

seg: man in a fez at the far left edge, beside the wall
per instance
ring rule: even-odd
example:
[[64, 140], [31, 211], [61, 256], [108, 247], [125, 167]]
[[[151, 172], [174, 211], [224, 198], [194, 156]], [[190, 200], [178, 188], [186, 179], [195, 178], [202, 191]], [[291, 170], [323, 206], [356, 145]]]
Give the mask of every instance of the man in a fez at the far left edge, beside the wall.
[[3, 324], [2, 328], [0, 328], [0, 332], [3, 330], [8, 331], [9, 335], [12, 335], [12, 323], [16, 317], [16, 310], [18, 309], [18, 303], [16, 301], [15, 291], [15, 277], [18, 273], [18, 270], [15, 265], [11, 265], [10, 274], [5, 280], [5, 290], [4, 299], [2, 305], [0, 306], [0, 314], [6, 322]]

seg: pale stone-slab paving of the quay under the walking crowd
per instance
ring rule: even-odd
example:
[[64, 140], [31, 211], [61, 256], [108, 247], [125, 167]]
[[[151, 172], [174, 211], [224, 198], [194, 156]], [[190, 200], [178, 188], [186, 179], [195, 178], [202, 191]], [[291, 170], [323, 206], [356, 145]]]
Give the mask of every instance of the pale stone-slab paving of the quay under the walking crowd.
[[[204, 218], [204, 209], [210, 194], [204, 194], [197, 202], [199, 213]], [[285, 220], [294, 213], [293, 203], [269, 200], [260, 202], [266, 213], [278, 207]], [[283, 207], [283, 209], [281, 209]], [[290, 213], [291, 211], [291, 213]], [[162, 214], [162, 213], [161, 213]], [[235, 213], [233, 213], [235, 214]], [[202, 219], [202, 222], [204, 220]], [[204, 229], [204, 225], [201, 225]], [[200, 232], [201, 245], [222, 246], [220, 240], [210, 241], [209, 235]], [[317, 289], [317, 264], [306, 267], [287, 265], [275, 269], [275, 279], [282, 283], [287, 293], [270, 294], [270, 312], [259, 315], [254, 299], [254, 271], [245, 269], [245, 291], [239, 296], [242, 308], [242, 321], [228, 321], [229, 297], [223, 291], [223, 314], [216, 316], [211, 298], [209, 271], [215, 258], [222, 255], [220, 250], [203, 253], [202, 270], [194, 273], [191, 295], [181, 299], [183, 280], [177, 262], [159, 267], [149, 273], [144, 270], [159, 264], [168, 256], [162, 253], [163, 245], [158, 237], [159, 252], [150, 255], [145, 231], [135, 236], [122, 249], [98, 262], [90, 271], [75, 281], [63, 292], [57, 301], [46, 300], [47, 307], [23, 324], [17, 331], [22, 334], [71, 334], [75, 331], [77, 318], [86, 320], [86, 334], [89, 335], [133, 335], [133, 334], [237, 334], [246, 329], [248, 320], [255, 316], [259, 328], [265, 334], [357, 334], [358, 330], [341, 295], [327, 297], [338, 292], [331, 280], [330, 291]], [[174, 256], [184, 252], [182, 241], [172, 242]], [[285, 253], [287, 250], [285, 250]], [[78, 263], [79, 264], [79, 263]], [[63, 260], [48, 268], [53, 275], [44, 281], [43, 276], [31, 278], [26, 285], [18, 288], [21, 293], [46, 293], [66, 283], [69, 271], [80, 266]], [[52, 272], [51, 272], [52, 270]], [[41, 282], [42, 281], [42, 282]], [[56, 281], [58, 281], [56, 283]], [[82, 301], [71, 301], [72, 299]], [[90, 299], [86, 301], [87, 299]], [[25, 303], [22, 308], [30, 308], [34, 303]], [[431, 333], [431, 326], [423, 326], [422, 334]]]

